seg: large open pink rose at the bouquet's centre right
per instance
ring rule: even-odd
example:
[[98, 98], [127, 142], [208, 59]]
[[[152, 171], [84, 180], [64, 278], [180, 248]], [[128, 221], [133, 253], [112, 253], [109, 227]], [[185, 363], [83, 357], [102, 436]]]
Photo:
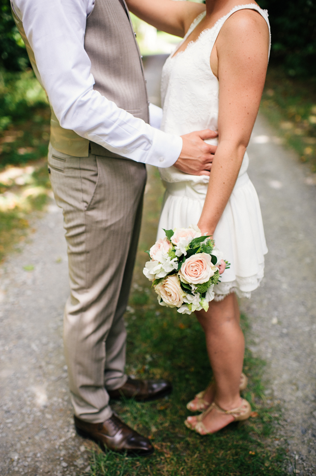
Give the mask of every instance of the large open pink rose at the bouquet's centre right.
[[207, 283], [216, 271], [217, 268], [212, 264], [210, 255], [196, 253], [185, 260], [179, 271], [179, 276], [184, 283], [202, 284]]

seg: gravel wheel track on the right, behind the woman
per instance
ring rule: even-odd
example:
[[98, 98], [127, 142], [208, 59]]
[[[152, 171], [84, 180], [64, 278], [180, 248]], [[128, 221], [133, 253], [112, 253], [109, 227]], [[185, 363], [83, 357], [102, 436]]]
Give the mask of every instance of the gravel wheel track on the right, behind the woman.
[[308, 167], [278, 142], [259, 117], [248, 147], [249, 176], [269, 253], [262, 286], [242, 308], [252, 322], [251, 349], [268, 362], [266, 394], [283, 407], [297, 471], [316, 474], [316, 187]]

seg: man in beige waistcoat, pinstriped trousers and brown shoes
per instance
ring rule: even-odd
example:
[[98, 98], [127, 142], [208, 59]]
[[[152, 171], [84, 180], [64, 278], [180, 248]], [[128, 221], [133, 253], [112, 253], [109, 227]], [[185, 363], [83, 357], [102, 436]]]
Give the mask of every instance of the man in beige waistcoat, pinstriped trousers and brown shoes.
[[124, 0], [11, 0], [51, 106], [48, 172], [63, 209], [70, 297], [64, 344], [77, 432], [119, 452], [150, 441], [112, 413], [109, 398], [157, 398], [163, 380], [124, 371], [126, 309], [140, 228], [145, 164], [208, 173], [212, 131], [152, 128], [145, 79]]

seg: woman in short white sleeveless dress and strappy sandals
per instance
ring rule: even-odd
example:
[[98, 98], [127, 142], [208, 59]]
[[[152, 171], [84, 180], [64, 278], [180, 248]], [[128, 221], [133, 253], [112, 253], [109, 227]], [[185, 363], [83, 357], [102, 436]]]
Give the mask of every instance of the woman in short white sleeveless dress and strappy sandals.
[[242, 373], [244, 336], [236, 294], [250, 297], [260, 285], [268, 251], [246, 152], [268, 64], [268, 15], [255, 2], [242, 0], [127, 4], [159, 30], [183, 37], [163, 67], [161, 129], [179, 135], [218, 131], [210, 177], [190, 176], [175, 167], [160, 169], [166, 193], [158, 238], [164, 237], [162, 228], [197, 223], [231, 262], [214, 287], [209, 310], [195, 312], [206, 335], [214, 379], [187, 405], [203, 413], [185, 423], [206, 435], [251, 413], [240, 396], [247, 379]]

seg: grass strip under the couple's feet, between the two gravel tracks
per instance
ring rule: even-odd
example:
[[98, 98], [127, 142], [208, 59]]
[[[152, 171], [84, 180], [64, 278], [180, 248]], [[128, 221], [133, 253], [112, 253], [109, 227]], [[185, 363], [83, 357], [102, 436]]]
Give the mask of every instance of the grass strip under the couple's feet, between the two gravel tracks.
[[[233, 423], [211, 436], [188, 430], [184, 420], [186, 403], [206, 387], [211, 370], [205, 339], [195, 317], [180, 315], [159, 306], [150, 283], [141, 269], [147, 260], [144, 250], [155, 240], [155, 224], [160, 210], [161, 184], [151, 171], [133, 289], [126, 322], [128, 329], [127, 373], [140, 378], [164, 378], [173, 382], [173, 393], [151, 403], [133, 400], [113, 402], [112, 408], [125, 422], [148, 436], [155, 446], [150, 458], [125, 458], [95, 449], [91, 476], [255, 476], [285, 474], [286, 453], [275, 447], [275, 427], [279, 413], [264, 403], [262, 373], [264, 362], [246, 349], [244, 371], [249, 386], [244, 397], [255, 412], [247, 422]], [[249, 334], [248, 322], [242, 325]], [[272, 449], [274, 447], [274, 449]]]

